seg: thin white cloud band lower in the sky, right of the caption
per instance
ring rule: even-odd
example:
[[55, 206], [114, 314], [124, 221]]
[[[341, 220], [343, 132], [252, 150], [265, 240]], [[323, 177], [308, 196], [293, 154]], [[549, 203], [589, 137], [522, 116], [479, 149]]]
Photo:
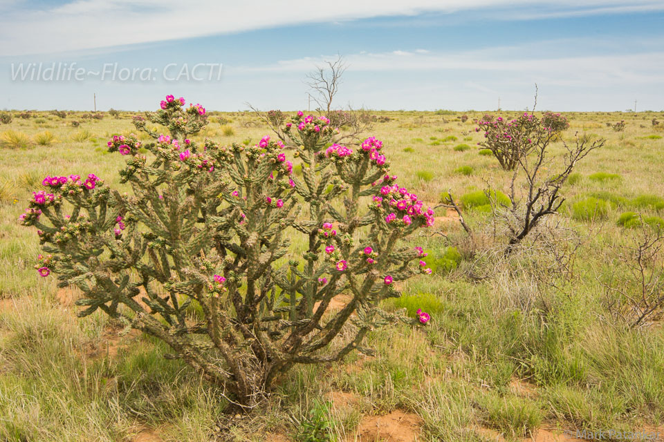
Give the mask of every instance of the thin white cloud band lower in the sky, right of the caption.
[[[344, 57], [353, 71], [459, 71], [464, 73], [492, 73], [504, 77], [537, 79], [557, 86], [587, 86], [591, 88], [636, 84], [664, 83], [664, 52], [629, 55], [580, 55], [578, 57], [528, 57], [523, 46], [491, 48], [467, 52], [403, 51], [358, 53]], [[404, 60], [404, 55], [407, 62]], [[227, 73], [304, 73], [315, 64], [334, 56], [282, 60], [263, 66], [227, 66]], [[529, 80], [528, 80], [529, 81]]]

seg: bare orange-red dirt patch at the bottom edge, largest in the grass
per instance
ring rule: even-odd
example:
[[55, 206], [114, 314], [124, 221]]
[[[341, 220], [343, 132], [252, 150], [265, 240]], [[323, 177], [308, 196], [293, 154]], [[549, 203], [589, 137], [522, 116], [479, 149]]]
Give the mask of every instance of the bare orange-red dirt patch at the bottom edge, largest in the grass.
[[384, 416], [365, 416], [355, 434], [347, 437], [353, 442], [415, 442], [423, 421], [416, 414], [395, 410]]

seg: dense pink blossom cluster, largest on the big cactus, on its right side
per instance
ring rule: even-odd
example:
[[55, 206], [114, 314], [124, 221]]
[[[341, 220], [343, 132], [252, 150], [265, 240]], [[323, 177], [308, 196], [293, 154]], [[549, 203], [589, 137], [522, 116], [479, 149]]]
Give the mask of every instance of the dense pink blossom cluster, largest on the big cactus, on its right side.
[[387, 224], [400, 219], [407, 226], [413, 222], [413, 218], [421, 218], [426, 227], [434, 225], [434, 210], [431, 207], [424, 210], [423, 202], [417, 199], [417, 195], [408, 193], [405, 187], [397, 184], [382, 186], [380, 195], [374, 196], [374, 204], [390, 212], [385, 216]]

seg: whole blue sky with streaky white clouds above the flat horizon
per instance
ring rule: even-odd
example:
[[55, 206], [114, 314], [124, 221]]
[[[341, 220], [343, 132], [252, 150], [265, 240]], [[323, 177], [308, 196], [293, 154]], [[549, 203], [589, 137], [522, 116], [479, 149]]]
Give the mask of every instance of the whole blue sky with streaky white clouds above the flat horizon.
[[[664, 1], [626, 3], [0, 0], [0, 108], [89, 110], [96, 93], [101, 110], [146, 110], [172, 93], [210, 110], [294, 110], [308, 105], [306, 73], [341, 54], [337, 106], [492, 110], [500, 97], [517, 110], [537, 83], [541, 110], [625, 111], [636, 99], [661, 111]], [[221, 76], [171, 80], [206, 63]], [[86, 74], [30, 80], [39, 64]], [[113, 66], [151, 78], [109, 79]]]

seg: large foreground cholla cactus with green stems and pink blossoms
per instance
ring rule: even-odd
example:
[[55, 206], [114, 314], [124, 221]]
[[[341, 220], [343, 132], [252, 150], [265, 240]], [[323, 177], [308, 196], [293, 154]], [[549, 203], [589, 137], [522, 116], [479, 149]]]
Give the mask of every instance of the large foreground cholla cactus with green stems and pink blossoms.
[[[294, 364], [338, 361], [395, 319], [378, 302], [430, 273], [404, 239], [432, 225], [433, 211], [394, 183], [373, 137], [330, 145], [329, 120], [300, 112], [283, 130], [292, 148], [269, 137], [201, 145], [182, 137], [204, 126], [205, 110], [183, 102], [169, 96], [147, 114], [170, 135], [136, 119], [155, 142], [109, 141], [127, 155], [120, 176], [133, 195], [93, 174], [46, 177], [21, 220], [38, 229], [39, 274], [82, 290], [80, 316], [102, 309], [164, 340], [172, 357], [252, 407]], [[342, 293], [347, 304], [328, 309]]]

